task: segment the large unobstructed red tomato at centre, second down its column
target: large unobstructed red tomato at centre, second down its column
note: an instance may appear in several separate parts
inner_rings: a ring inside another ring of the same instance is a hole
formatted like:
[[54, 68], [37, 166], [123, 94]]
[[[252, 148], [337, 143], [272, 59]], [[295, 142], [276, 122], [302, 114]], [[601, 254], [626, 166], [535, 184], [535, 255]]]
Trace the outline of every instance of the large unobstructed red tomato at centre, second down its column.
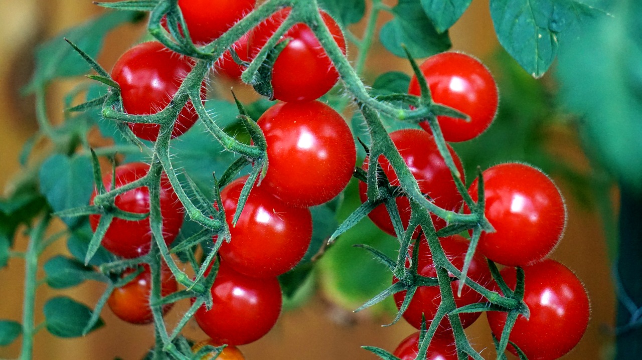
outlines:
[[268, 172], [261, 183], [297, 207], [319, 205], [348, 184], [356, 162], [350, 128], [333, 108], [279, 103], [258, 121], [267, 142]]

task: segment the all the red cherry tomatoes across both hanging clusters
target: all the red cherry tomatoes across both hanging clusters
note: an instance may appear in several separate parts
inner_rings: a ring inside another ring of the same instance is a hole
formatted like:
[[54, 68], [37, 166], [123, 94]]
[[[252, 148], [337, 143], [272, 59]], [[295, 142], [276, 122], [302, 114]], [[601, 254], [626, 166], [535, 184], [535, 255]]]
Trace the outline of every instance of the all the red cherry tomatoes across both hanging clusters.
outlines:
[[[205, 1], [202, 0], [178, 1], [185, 26], [179, 29], [180, 33], [183, 36], [189, 34], [197, 45], [218, 39], [256, 6], [254, 0], [207, 2], [207, 6], [203, 3]], [[229, 78], [238, 78], [247, 62], [261, 53], [291, 12], [291, 8], [282, 8], [240, 37], [216, 61], [214, 71]], [[320, 17], [333, 35], [334, 45], [345, 55], [341, 28], [327, 13], [321, 11]], [[168, 26], [166, 19], [163, 24]], [[309, 207], [335, 198], [354, 173], [356, 147], [351, 130], [341, 114], [318, 100], [339, 78], [324, 47], [313, 30], [303, 23], [291, 26], [277, 42], [283, 46], [273, 59], [270, 85], [272, 98], [279, 102], [268, 108], [257, 121], [265, 137], [266, 159], [261, 159], [265, 160], [261, 164], [265, 164], [266, 171], [252, 184], [236, 223], [233, 218], [239, 207], [241, 191], [248, 181], [247, 176], [227, 184], [220, 193], [220, 203], [214, 204], [217, 210], [225, 211], [231, 239], [229, 243], [221, 244], [216, 266], [207, 270], [207, 273], [216, 271], [209, 290], [212, 304], [210, 307], [200, 306], [195, 320], [211, 338], [207, 344], [230, 345], [217, 359], [243, 359], [234, 345], [256, 341], [275, 325], [282, 307], [277, 276], [295, 268], [308, 250], [312, 236]], [[237, 64], [230, 51], [234, 51], [243, 64]], [[118, 84], [123, 110], [128, 114], [149, 115], [170, 108], [173, 106], [172, 98], [194, 64], [189, 56], [173, 53], [159, 42], [144, 42], [132, 47], [119, 58], [111, 74]], [[297, 76], [292, 75], [293, 66], [297, 67]], [[462, 53], [447, 52], [428, 58], [420, 69], [432, 101], [459, 110], [468, 117], [437, 117], [446, 141], [473, 139], [490, 126], [498, 108], [498, 89], [481, 62]], [[205, 97], [204, 84], [205, 81], [201, 87], [202, 100]], [[416, 77], [410, 81], [408, 93], [422, 95], [420, 81]], [[427, 94], [423, 95], [426, 98]], [[192, 103], [188, 102], [177, 113], [172, 137], [180, 136], [198, 120]], [[389, 135], [417, 181], [419, 190], [441, 209], [471, 213], [473, 204], [464, 204], [453, 179], [453, 172], [458, 172], [460, 180], [465, 181], [464, 169], [455, 150], [447, 145], [455, 164], [451, 169], [439, 151], [439, 139], [435, 139], [439, 132], [433, 136], [433, 129], [426, 121], [418, 127], [421, 128], [397, 130]], [[130, 124], [130, 128], [141, 139], [156, 141], [160, 126]], [[371, 161], [369, 157], [363, 161], [365, 171], [372, 170], [374, 165]], [[401, 185], [390, 160], [384, 155], [377, 159], [377, 166], [380, 167], [377, 173], [385, 175], [392, 187]], [[142, 179], [149, 169], [148, 164], [125, 164], [116, 167], [114, 178], [105, 176], [103, 184], [107, 191], [117, 189]], [[516, 287], [514, 266], [523, 267], [526, 273], [524, 302], [530, 309], [530, 318], [522, 316], [517, 320], [510, 340], [529, 359], [555, 359], [566, 354], [579, 341], [589, 316], [586, 291], [581, 282], [561, 264], [544, 259], [559, 242], [566, 225], [562, 196], [548, 176], [526, 164], [500, 164], [484, 171], [482, 178], [485, 208], [480, 211], [494, 232], [482, 233], [478, 251], [469, 262], [467, 277], [480, 286], [501, 292], [490, 275], [487, 259], [507, 266], [501, 274], [513, 289]], [[379, 184], [377, 182], [377, 186]], [[469, 187], [473, 201], [478, 201], [478, 186], [479, 180], [474, 180]], [[359, 184], [359, 193], [361, 201], [368, 200], [364, 182]], [[404, 229], [409, 226], [413, 211], [406, 195], [403, 189], [395, 193]], [[92, 195], [92, 204], [96, 196], [99, 196], [98, 191]], [[150, 195], [148, 189], [141, 186], [117, 195], [113, 206], [98, 205], [102, 216], [114, 207], [141, 214], [150, 211]], [[169, 246], [182, 226], [184, 209], [165, 175], [160, 178], [160, 211], [163, 240]], [[393, 236], [400, 235], [395, 234], [385, 205], [376, 207], [369, 217], [381, 230]], [[98, 228], [100, 219], [101, 214], [90, 217], [94, 230]], [[436, 277], [438, 266], [433, 259], [435, 249], [431, 249], [425, 234], [433, 234], [449, 225], [447, 219], [436, 214], [431, 214], [431, 219], [434, 228], [410, 229], [414, 237], [419, 236], [419, 240], [406, 257], [406, 267], [416, 268], [417, 275], [423, 277]], [[214, 237], [213, 241], [217, 240]], [[102, 244], [110, 252], [131, 259], [148, 253], [152, 241], [148, 219], [131, 221], [115, 217]], [[462, 271], [469, 239], [455, 235], [439, 239], [439, 244], [447, 261]], [[418, 263], [411, 266], [413, 253]], [[131, 323], [152, 321], [150, 271], [146, 265], [143, 268], [132, 282], [115, 289], [108, 300], [112, 311]], [[126, 277], [132, 271], [135, 270], [126, 270], [121, 276]], [[485, 302], [484, 296], [473, 287], [463, 286], [458, 291], [462, 280], [453, 274], [450, 276], [456, 307]], [[161, 280], [162, 296], [178, 290], [177, 282], [167, 268], [162, 268]], [[399, 281], [395, 277], [392, 279], [393, 283]], [[555, 284], [555, 287], [548, 284]], [[394, 295], [399, 309], [406, 295], [407, 291]], [[555, 301], [549, 299], [545, 302], [542, 300], [545, 296], [552, 296]], [[441, 302], [438, 286], [420, 286], [403, 317], [421, 329], [422, 320], [428, 324], [435, 320]], [[162, 307], [162, 311], [168, 311], [169, 307]], [[480, 313], [462, 313], [459, 318], [463, 327], [468, 327], [479, 316]], [[506, 313], [489, 312], [488, 319], [492, 332], [500, 336]], [[569, 330], [571, 324], [574, 327]], [[449, 320], [444, 318], [435, 326], [437, 333], [431, 340], [426, 359], [456, 359]], [[529, 335], [537, 332], [541, 332], [541, 336]], [[419, 333], [406, 338], [395, 350], [395, 356], [402, 360], [414, 359], [418, 341]], [[194, 351], [198, 348], [195, 347]]]

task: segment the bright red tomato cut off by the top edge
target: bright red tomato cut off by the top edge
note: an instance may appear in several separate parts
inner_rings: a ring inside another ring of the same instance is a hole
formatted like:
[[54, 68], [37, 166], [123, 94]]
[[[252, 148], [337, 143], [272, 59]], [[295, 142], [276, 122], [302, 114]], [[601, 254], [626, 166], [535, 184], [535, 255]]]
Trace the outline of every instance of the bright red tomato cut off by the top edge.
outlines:
[[178, 7], [195, 44], [217, 39], [254, 10], [256, 0], [178, 0]]

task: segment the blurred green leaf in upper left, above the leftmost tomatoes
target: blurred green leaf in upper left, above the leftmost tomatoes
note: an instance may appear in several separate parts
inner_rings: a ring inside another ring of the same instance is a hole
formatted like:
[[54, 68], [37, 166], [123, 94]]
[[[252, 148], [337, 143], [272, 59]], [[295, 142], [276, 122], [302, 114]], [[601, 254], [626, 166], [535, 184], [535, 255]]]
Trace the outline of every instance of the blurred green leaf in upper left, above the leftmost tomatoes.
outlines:
[[44, 42], [36, 49], [36, 69], [26, 90], [32, 92], [35, 87], [46, 85], [54, 78], [78, 76], [89, 71], [90, 65], [73, 47], [65, 44], [64, 38], [73, 41], [87, 55], [95, 58], [108, 31], [137, 17], [135, 12], [107, 12]]

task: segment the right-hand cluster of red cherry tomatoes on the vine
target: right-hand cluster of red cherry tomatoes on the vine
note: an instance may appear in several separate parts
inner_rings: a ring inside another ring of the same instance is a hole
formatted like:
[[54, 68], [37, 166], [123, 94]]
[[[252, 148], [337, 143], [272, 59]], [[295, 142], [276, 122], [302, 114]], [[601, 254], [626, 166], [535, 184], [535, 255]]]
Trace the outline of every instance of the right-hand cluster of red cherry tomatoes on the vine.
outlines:
[[[488, 69], [475, 58], [462, 53], [441, 53], [428, 58], [421, 66], [424, 80], [430, 90], [432, 101], [455, 108], [469, 119], [438, 116], [437, 121], [446, 141], [467, 141], [483, 133], [492, 123], [498, 107], [498, 90]], [[421, 94], [416, 77], [412, 78], [408, 92]], [[399, 151], [405, 164], [417, 180], [419, 189], [429, 201], [445, 210], [469, 214], [467, 204], [458, 193], [450, 169], [437, 150], [431, 136], [428, 122], [420, 123], [426, 130], [397, 130], [390, 133], [390, 139]], [[448, 151], [456, 169], [463, 177], [462, 164], [455, 151], [448, 145]], [[369, 169], [370, 159], [363, 162], [363, 169]], [[399, 186], [397, 174], [381, 156], [378, 166], [392, 186]], [[499, 291], [490, 275], [486, 258], [508, 266], [503, 275], [509, 287], [516, 287], [515, 266], [524, 268], [526, 293], [524, 302], [530, 310], [530, 318], [519, 316], [510, 341], [525, 352], [528, 359], [557, 359], [578, 343], [589, 318], [589, 304], [586, 291], [580, 280], [558, 262], [545, 259], [553, 251], [564, 232], [566, 208], [559, 189], [539, 169], [520, 163], [499, 164], [483, 171], [484, 204], [483, 214], [494, 228], [482, 232], [474, 253], [467, 277], [477, 284]], [[469, 187], [469, 195], [478, 201], [479, 180]], [[367, 200], [367, 185], [360, 183], [361, 201]], [[403, 191], [396, 198], [402, 225], [408, 227], [412, 209]], [[444, 219], [431, 214], [434, 230], [446, 225]], [[369, 214], [370, 219], [388, 234], [395, 235], [392, 221], [384, 205], [379, 205]], [[426, 229], [422, 229], [426, 230]], [[433, 230], [433, 229], [429, 229]], [[414, 237], [421, 232], [415, 229]], [[469, 233], [472, 235], [472, 231]], [[464, 267], [469, 241], [462, 236], [451, 236], [439, 241], [447, 260], [458, 270]], [[421, 235], [419, 248], [411, 246], [406, 257], [409, 259], [418, 251], [417, 274], [436, 277], [435, 263], [426, 237]], [[463, 307], [483, 303], [484, 297], [471, 287], [464, 286], [458, 291], [459, 279], [451, 274], [451, 287], [455, 306]], [[393, 277], [393, 284], [399, 279]], [[501, 293], [501, 291], [500, 291]], [[406, 297], [406, 291], [394, 295], [399, 309]], [[417, 329], [422, 320], [430, 325], [442, 302], [438, 286], [419, 286], [403, 313], [403, 318]], [[480, 313], [459, 314], [463, 327], [473, 323]], [[488, 320], [495, 336], [501, 336], [507, 313], [490, 311]], [[395, 351], [401, 359], [414, 359], [417, 355], [419, 333], [404, 339]], [[515, 348], [509, 350], [516, 353]], [[457, 359], [453, 330], [446, 317], [437, 326], [437, 332], [428, 348], [426, 359]]]

